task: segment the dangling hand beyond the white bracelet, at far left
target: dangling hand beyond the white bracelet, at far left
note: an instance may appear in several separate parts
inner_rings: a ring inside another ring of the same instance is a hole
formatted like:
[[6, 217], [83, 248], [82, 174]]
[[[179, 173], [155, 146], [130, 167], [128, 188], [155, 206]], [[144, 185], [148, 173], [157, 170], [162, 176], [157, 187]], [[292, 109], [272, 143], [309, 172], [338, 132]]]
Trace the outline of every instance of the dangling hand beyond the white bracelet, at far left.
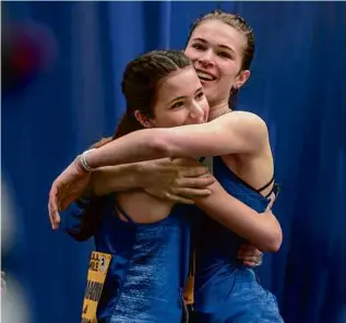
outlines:
[[58, 229], [59, 211], [80, 198], [88, 186], [91, 174], [79, 164], [79, 157], [53, 181], [49, 192], [48, 212], [52, 229]]

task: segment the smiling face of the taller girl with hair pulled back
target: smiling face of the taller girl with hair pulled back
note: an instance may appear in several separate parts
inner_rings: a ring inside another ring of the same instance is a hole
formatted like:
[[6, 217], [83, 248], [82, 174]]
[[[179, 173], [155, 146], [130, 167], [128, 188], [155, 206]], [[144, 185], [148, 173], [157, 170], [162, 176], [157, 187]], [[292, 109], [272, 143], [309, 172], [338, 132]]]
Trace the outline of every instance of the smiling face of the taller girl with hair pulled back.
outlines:
[[211, 106], [228, 100], [231, 87], [239, 88], [250, 76], [242, 70], [247, 37], [215, 19], [202, 21], [191, 34], [186, 55], [203, 85]]

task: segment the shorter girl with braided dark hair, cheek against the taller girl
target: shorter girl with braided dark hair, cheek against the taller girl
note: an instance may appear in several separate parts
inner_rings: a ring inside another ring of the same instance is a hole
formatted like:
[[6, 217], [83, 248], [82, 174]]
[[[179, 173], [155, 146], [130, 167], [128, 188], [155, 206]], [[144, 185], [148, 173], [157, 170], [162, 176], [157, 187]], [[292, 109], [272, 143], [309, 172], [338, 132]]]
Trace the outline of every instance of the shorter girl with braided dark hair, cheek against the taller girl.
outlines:
[[[122, 93], [127, 111], [114, 136], [92, 148], [100, 149], [144, 128], [195, 123], [207, 117], [201, 83], [182, 51], [152, 51], [131, 61]], [[69, 235], [79, 241], [94, 237], [96, 251], [112, 258], [97, 307], [98, 321], [180, 323], [191, 225], [198, 214], [143, 190], [91, 195], [76, 206], [70, 213], [79, 224], [70, 226]]]

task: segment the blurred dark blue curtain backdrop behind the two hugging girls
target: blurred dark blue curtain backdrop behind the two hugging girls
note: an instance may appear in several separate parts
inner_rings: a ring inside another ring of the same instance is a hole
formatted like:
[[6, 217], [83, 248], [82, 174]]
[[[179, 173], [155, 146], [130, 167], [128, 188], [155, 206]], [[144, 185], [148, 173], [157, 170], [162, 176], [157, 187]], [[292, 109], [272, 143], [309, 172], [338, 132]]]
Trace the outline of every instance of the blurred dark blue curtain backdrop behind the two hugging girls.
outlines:
[[266, 120], [283, 184], [284, 243], [261, 280], [286, 322], [346, 322], [346, 3], [25, 1], [2, 2], [2, 39], [16, 39], [14, 79], [2, 77], [2, 271], [24, 316], [4, 323], [80, 321], [92, 244], [51, 231], [50, 184], [112, 133], [126, 63], [183, 48], [190, 24], [216, 8], [254, 28], [239, 108]]

